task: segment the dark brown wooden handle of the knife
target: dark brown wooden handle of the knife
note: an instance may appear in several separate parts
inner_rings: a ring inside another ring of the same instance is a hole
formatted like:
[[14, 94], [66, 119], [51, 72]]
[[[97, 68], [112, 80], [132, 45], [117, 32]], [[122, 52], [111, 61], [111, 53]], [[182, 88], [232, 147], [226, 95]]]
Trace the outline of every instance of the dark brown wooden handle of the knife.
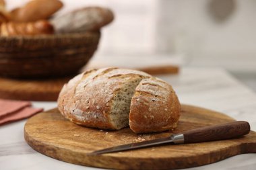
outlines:
[[250, 125], [245, 121], [236, 121], [215, 126], [207, 126], [189, 130], [183, 133], [184, 143], [207, 142], [236, 138], [249, 134]]

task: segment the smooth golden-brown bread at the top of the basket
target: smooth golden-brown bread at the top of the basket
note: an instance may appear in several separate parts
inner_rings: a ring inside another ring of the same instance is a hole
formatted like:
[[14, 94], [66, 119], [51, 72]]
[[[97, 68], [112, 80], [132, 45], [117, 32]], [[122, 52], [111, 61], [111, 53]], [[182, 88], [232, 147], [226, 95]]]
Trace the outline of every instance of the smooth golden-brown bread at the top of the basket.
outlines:
[[59, 0], [32, 0], [24, 7], [17, 8], [11, 12], [13, 22], [36, 22], [40, 19], [49, 19], [53, 13], [63, 7]]

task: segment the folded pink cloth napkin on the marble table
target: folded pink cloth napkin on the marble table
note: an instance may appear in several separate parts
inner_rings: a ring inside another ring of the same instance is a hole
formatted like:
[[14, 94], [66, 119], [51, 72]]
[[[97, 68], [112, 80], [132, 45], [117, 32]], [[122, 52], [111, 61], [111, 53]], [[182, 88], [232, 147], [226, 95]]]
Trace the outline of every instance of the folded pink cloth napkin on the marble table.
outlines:
[[42, 108], [31, 108], [30, 101], [0, 99], [0, 126], [28, 118], [38, 112], [42, 112], [42, 110]]

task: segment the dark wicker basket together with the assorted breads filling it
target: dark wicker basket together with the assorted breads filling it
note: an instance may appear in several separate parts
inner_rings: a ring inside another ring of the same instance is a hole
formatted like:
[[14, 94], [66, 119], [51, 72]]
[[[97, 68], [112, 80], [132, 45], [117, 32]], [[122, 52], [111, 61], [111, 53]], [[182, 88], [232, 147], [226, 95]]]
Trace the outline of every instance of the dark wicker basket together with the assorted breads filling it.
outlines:
[[82, 7], [52, 17], [62, 6], [58, 0], [29, 1], [0, 20], [0, 76], [61, 77], [86, 65], [97, 49], [100, 29], [113, 21], [114, 13]]

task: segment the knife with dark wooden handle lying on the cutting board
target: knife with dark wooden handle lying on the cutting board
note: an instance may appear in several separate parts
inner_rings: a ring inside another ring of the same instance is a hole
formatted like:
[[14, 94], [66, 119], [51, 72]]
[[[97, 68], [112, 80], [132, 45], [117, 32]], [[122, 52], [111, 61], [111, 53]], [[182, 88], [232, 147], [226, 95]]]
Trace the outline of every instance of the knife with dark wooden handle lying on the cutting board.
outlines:
[[188, 130], [182, 134], [172, 134], [166, 138], [157, 138], [154, 140], [147, 140], [143, 142], [135, 142], [130, 144], [123, 144], [110, 148], [88, 153], [88, 155], [100, 155], [104, 153], [115, 153], [119, 151], [133, 150], [137, 148], [145, 148], [148, 146], [156, 146], [160, 144], [186, 144], [195, 142], [209, 142], [214, 140], [224, 140], [236, 138], [249, 134], [250, 125], [245, 121], [229, 122], [226, 124], [218, 124], [214, 126], [206, 126], [203, 128], [196, 128]]

